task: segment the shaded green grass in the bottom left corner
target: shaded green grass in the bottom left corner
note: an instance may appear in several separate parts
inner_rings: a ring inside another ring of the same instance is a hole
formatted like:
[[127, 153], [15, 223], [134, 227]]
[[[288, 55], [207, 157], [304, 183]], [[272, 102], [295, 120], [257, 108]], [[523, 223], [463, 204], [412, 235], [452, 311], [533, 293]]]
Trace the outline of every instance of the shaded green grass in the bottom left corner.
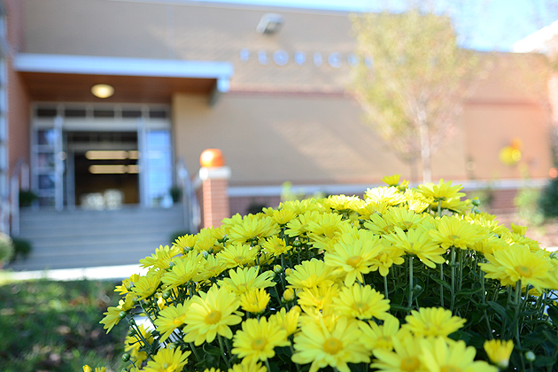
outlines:
[[4, 372], [117, 371], [128, 327], [108, 335], [99, 321], [119, 296], [112, 282], [47, 280], [0, 285], [0, 366]]

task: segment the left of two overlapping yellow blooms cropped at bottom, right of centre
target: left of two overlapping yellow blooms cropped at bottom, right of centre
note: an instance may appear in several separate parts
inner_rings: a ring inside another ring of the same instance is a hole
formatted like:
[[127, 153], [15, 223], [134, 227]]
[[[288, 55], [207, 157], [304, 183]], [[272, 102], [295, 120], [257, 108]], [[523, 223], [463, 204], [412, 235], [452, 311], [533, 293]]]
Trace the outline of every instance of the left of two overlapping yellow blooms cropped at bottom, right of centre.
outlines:
[[[379, 371], [423, 372], [421, 346], [415, 337], [391, 337], [393, 351], [378, 347], [372, 351], [376, 359], [370, 365]], [[471, 371], [472, 372], [472, 371]]]

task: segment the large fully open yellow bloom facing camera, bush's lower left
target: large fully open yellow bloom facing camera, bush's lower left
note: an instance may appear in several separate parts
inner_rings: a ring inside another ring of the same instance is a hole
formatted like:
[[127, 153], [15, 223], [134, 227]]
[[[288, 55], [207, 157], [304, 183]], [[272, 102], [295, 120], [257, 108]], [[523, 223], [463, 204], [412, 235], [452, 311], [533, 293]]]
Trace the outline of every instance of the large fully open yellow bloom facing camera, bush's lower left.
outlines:
[[213, 285], [206, 293], [199, 292], [199, 296], [190, 299], [184, 318], [184, 341], [202, 345], [213, 342], [217, 334], [232, 338], [229, 326], [242, 322], [242, 313], [236, 311], [238, 306], [239, 299], [229, 288]]

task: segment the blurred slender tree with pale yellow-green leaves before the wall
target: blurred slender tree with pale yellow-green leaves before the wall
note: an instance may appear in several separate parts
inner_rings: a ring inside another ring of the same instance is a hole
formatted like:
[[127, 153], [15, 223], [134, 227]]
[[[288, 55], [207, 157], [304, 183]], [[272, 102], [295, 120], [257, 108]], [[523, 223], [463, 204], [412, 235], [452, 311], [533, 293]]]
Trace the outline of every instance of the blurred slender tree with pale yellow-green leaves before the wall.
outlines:
[[477, 55], [461, 49], [452, 20], [419, 6], [353, 18], [357, 53], [371, 58], [354, 71], [353, 93], [376, 132], [407, 162], [431, 155], [451, 136], [475, 75]]

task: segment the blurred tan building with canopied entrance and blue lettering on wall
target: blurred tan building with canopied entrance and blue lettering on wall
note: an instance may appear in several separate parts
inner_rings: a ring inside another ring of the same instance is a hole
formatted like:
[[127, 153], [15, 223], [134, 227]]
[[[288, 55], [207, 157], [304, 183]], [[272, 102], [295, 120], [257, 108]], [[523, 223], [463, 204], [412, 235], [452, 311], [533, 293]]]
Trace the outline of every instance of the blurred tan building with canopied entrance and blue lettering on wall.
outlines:
[[[9, 179], [25, 184], [25, 165], [41, 208], [61, 211], [95, 206], [106, 190], [117, 203], [165, 205], [177, 168], [197, 174], [207, 148], [221, 149], [231, 169], [231, 213], [276, 205], [283, 182], [353, 195], [384, 175], [412, 177], [346, 93], [354, 64], [368, 62], [353, 54], [346, 12], [180, 0], [0, 4], [4, 221]], [[553, 166], [546, 81], [535, 74], [544, 57], [489, 57], [433, 175], [513, 195], [522, 172], [541, 183]], [[112, 95], [94, 96], [97, 84]], [[517, 139], [522, 159], [503, 164], [500, 151]]]

